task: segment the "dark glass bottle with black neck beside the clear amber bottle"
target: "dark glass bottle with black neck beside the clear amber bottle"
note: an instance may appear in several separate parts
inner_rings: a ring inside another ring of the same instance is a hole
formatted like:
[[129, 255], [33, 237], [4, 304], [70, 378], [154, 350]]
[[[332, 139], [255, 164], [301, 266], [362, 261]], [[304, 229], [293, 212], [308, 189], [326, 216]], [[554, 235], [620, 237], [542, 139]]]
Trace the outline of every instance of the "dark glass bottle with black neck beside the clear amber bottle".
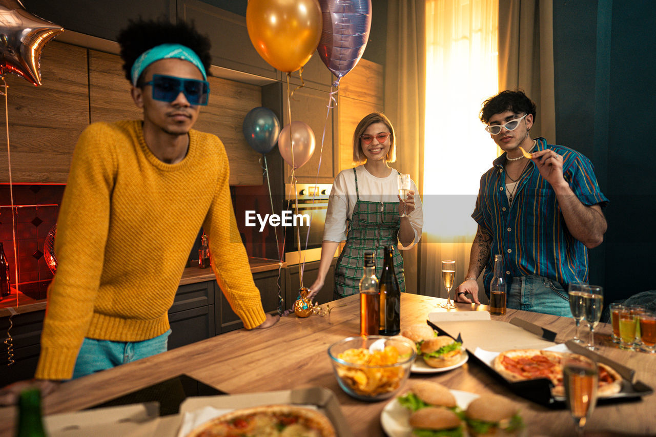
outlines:
[[380, 335], [397, 335], [401, 332], [401, 289], [394, 272], [394, 246], [385, 246], [380, 291]]

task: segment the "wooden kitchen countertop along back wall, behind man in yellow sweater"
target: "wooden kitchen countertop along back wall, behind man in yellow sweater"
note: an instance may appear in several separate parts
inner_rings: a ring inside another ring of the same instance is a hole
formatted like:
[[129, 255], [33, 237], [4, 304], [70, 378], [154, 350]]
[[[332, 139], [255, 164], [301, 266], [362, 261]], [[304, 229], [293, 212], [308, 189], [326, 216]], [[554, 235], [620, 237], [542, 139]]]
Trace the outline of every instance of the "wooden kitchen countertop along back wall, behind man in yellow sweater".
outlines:
[[[251, 273], [259, 272], [268, 272], [269, 270], [276, 270], [278, 266], [285, 268], [287, 263], [279, 262], [274, 259], [265, 259], [265, 258], [255, 258], [249, 257], [249, 264], [251, 264]], [[187, 267], [182, 272], [182, 278], [180, 279], [180, 285], [188, 285], [190, 283], [197, 283], [203, 281], [213, 281], [215, 280], [215, 274], [211, 268], [198, 268], [198, 267]], [[11, 295], [5, 297], [0, 301], [0, 317], [8, 317], [11, 315], [9, 308], [14, 308], [18, 314], [24, 314], [26, 312], [45, 310], [47, 300], [35, 300], [31, 299], [24, 295], [23, 293], [18, 293], [18, 305], [16, 305], [16, 289], [11, 289]]]

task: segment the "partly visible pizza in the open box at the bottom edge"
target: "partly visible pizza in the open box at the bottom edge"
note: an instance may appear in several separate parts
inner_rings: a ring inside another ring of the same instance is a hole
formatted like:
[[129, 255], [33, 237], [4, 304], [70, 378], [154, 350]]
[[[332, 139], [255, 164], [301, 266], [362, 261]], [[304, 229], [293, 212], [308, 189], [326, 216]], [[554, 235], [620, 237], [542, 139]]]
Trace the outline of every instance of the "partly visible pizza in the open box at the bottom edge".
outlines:
[[292, 405], [236, 409], [196, 427], [186, 437], [337, 437], [325, 415]]

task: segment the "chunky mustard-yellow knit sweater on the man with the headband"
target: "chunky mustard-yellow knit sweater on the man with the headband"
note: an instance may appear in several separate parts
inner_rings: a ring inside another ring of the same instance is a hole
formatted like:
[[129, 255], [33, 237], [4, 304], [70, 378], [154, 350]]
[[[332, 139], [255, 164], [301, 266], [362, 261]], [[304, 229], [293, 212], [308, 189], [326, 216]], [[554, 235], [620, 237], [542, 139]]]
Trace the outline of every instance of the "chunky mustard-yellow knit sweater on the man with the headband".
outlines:
[[72, 377], [84, 337], [142, 341], [165, 333], [201, 226], [230, 306], [247, 328], [264, 322], [224, 146], [214, 135], [189, 136], [187, 156], [175, 164], [150, 152], [141, 121], [94, 123], [80, 136], [57, 220], [58, 269], [35, 377]]

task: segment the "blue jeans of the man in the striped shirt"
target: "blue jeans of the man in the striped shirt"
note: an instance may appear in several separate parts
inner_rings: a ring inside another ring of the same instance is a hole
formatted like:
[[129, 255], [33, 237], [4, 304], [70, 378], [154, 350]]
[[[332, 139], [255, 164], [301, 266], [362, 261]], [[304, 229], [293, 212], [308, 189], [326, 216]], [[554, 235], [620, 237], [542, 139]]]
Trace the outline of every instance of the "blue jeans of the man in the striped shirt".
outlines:
[[567, 291], [556, 280], [544, 276], [512, 278], [508, 291], [508, 308], [571, 317]]

